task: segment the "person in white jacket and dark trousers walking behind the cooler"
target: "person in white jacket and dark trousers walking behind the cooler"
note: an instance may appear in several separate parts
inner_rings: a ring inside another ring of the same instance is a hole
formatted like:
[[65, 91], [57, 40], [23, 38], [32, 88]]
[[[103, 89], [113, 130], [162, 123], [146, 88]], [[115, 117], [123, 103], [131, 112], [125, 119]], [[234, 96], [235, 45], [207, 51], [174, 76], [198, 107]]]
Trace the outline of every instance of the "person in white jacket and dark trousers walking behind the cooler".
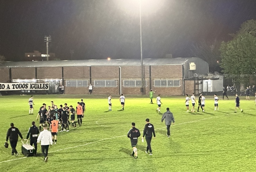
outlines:
[[51, 144], [52, 146], [53, 140], [51, 132], [47, 130], [47, 126], [43, 126], [43, 129], [37, 138], [37, 143], [41, 141], [42, 154], [44, 155], [44, 161], [47, 162], [49, 145]]

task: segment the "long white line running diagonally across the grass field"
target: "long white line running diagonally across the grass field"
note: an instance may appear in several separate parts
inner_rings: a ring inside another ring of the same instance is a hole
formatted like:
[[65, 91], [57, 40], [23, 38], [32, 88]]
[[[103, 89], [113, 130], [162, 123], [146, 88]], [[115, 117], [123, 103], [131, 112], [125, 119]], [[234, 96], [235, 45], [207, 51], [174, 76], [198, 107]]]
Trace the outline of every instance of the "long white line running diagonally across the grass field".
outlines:
[[[233, 113], [230, 113], [230, 114], [233, 114]], [[199, 119], [199, 120], [195, 120], [195, 121], [189, 121], [189, 122], [178, 123], [178, 124], [175, 124], [175, 125], [173, 125], [173, 126], [182, 125], [182, 124], [185, 124], [185, 123], [197, 122], [197, 121], [201, 121], [201, 120], [205, 120], [205, 119], [211, 119], [211, 118], [216, 118], [216, 117], [227, 116], [227, 115], [230, 115], [230, 114], [221, 115], [221, 116], [214, 116], [214, 117], [209, 117], [209, 118], [203, 118], [203, 119]], [[173, 127], [173, 126], [171, 126], [171, 127]], [[155, 130], [159, 130], [159, 129], [163, 129], [163, 128], [166, 128], [166, 127], [157, 128], [157, 129], [155, 129]], [[106, 139], [101, 139], [101, 140], [93, 141], [93, 142], [90, 142], [90, 143], [81, 144], [81, 145], [79, 145], [79, 146], [74, 146], [74, 147], [69, 147], [69, 148], [64, 148], [64, 149], [58, 149], [58, 150], [55, 150], [55, 151], [50, 151], [50, 152], [48, 152], [48, 153], [57, 152], [57, 151], [62, 151], [62, 150], [66, 150], [66, 149], [77, 148], [77, 147], [81, 147], [81, 146], [86, 146], [86, 145], [88, 145], [88, 144], [97, 143], [97, 142], [100, 142], [100, 141], [115, 139], [115, 138], [124, 137], [124, 136], [126, 136], [126, 135], [116, 136], [116, 137], [110, 137], [110, 138], [106, 138]], [[15, 161], [15, 160], [24, 159], [24, 158], [28, 158], [28, 157], [22, 157], [22, 158], [7, 160], [7, 161], [1, 161], [0, 163]]]

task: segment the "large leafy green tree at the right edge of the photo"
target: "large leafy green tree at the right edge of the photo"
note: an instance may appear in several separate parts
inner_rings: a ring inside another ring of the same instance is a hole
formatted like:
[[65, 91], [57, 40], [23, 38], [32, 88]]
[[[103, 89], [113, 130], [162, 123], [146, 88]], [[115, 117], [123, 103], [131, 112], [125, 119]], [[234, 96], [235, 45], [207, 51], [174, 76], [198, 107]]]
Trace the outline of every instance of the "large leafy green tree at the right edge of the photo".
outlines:
[[241, 24], [231, 41], [221, 43], [220, 52], [222, 72], [248, 83], [249, 76], [256, 71], [256, 21]]

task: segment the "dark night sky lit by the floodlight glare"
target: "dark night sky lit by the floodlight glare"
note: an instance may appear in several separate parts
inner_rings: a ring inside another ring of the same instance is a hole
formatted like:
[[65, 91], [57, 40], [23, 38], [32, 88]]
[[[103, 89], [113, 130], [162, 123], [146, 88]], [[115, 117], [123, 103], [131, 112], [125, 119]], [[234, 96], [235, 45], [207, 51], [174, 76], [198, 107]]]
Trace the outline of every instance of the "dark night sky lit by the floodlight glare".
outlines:
[[[141, 0], [143, 58], [191, 57], [250, 19], [256, 0]], [[140, 58], [139, 0], [0, 0], [0, 55], [45, 54], [45, 35], [61, 60]]]

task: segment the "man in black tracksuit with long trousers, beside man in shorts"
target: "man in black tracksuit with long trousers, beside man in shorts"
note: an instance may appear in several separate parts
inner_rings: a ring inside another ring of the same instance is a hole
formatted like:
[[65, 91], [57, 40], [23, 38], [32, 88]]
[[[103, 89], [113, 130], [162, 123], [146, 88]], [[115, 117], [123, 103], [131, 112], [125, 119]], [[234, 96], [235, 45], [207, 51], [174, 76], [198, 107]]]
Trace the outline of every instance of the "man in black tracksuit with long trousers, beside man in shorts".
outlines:
[[154, 138], [156, 138], [156, 134], [155, 134], [155, 129], [152, 123], [149, 123], [149, 119], [146, 119], [146, 125], [143, 131], [143, 137], [146, 135], [146, 141], [147, 141], [147, 150], [145, 150], [146, 153], [148, 153], [149, 150], [149, 155], [152, 155], [152, 149], [151, 149], [151, 139], [152, 139], [152, 133], [154, 135]]

